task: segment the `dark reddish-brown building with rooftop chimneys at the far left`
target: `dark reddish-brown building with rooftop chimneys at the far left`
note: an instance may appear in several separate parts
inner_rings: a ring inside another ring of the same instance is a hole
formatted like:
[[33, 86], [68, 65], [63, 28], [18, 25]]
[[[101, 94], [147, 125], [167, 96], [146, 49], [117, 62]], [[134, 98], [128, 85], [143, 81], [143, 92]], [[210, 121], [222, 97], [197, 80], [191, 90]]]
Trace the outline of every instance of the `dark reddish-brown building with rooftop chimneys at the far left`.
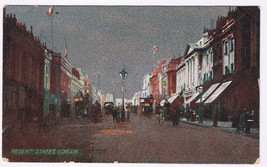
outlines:
[[32, 28], [27, 31], [15, 15], [4, 13], [3, 30], [3, 120], [9, 124], [21, 108], [42, 115], [45, 57]]

